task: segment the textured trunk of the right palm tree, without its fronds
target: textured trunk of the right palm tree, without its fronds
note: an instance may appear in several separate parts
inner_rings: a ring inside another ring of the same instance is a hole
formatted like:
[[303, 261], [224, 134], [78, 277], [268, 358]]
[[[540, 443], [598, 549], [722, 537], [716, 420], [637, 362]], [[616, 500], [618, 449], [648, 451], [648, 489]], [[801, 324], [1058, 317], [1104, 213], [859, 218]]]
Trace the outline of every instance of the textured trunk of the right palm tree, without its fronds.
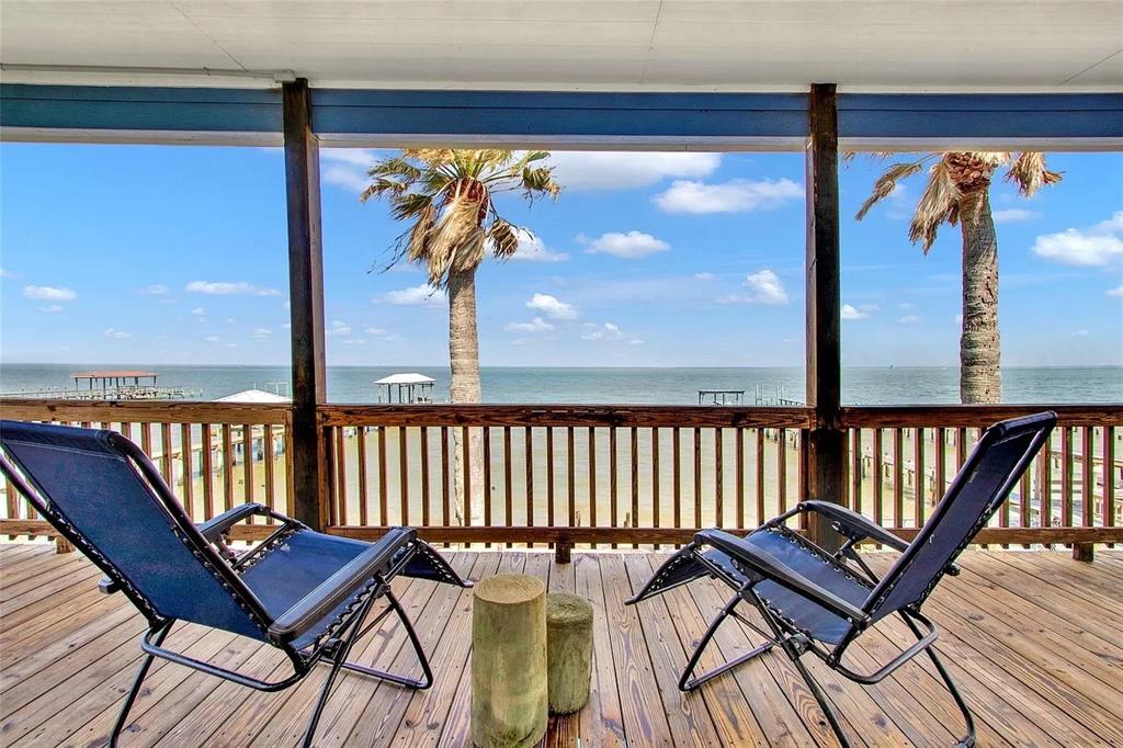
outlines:
[[959, 398], [965, 403], [1002, 402], [998, 345], [998, 239], [990, 216], [989, 185], [959, 200], [964, 235], [964, 327], [959, 340]]

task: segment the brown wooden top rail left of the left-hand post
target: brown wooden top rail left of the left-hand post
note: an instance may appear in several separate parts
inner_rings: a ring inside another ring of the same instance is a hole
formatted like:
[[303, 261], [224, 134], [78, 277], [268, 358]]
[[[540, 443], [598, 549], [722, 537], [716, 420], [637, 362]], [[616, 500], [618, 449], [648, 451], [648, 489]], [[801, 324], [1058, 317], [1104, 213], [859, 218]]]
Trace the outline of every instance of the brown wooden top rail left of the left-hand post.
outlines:
[[3, 418], [25, 421], [284, 425], [290, 412], [287, 405], [191, 400], [0, 400]]

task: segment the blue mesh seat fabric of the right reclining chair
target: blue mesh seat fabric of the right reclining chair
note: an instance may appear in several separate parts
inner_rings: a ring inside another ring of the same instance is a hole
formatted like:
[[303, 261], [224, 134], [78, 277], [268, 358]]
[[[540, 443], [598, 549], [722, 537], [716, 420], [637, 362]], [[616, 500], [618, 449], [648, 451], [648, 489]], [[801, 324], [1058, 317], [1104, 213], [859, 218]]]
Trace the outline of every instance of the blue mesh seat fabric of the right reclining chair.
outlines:
[[[868, 583], [839, 568], [830, 558], [811, 550], [793, 535], [783, 530], [763, 530], [747, 536], [745, 541], [853, 605], [860, 608], [869, 598]], [[710, 550], [705, 557], [738, 578], [748, 578], [724, 553]], [[838, 644], [850, 630], [850, 623], [846, 620], [775, 582], [765, 580], [757, 584], [756, 591], [777, 615], [813, 639]]]

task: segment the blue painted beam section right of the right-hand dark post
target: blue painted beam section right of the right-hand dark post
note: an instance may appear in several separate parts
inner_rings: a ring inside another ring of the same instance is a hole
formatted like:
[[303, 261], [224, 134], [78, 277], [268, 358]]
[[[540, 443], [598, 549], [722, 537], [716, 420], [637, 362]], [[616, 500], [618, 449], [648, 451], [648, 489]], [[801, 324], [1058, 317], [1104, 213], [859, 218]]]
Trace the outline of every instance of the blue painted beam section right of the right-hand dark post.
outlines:
[[1123, 94], [839, 94], [839, 137], [1120, 140]]

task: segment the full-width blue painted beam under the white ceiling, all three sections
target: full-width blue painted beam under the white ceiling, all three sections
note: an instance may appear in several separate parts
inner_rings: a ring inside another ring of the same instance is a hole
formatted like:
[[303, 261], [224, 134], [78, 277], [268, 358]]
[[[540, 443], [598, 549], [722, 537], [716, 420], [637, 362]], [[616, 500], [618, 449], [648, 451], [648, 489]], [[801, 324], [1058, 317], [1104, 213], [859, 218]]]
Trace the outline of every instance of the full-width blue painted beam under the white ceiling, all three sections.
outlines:
[[[802, 138], [803, 93], [312, 89], [325, 136]], [[838, 97], [842, 138], [1123, 138], [1123, 94]], [[280, 133], [279, 89], [0, 85], [0, 125], [39, 130]]]

